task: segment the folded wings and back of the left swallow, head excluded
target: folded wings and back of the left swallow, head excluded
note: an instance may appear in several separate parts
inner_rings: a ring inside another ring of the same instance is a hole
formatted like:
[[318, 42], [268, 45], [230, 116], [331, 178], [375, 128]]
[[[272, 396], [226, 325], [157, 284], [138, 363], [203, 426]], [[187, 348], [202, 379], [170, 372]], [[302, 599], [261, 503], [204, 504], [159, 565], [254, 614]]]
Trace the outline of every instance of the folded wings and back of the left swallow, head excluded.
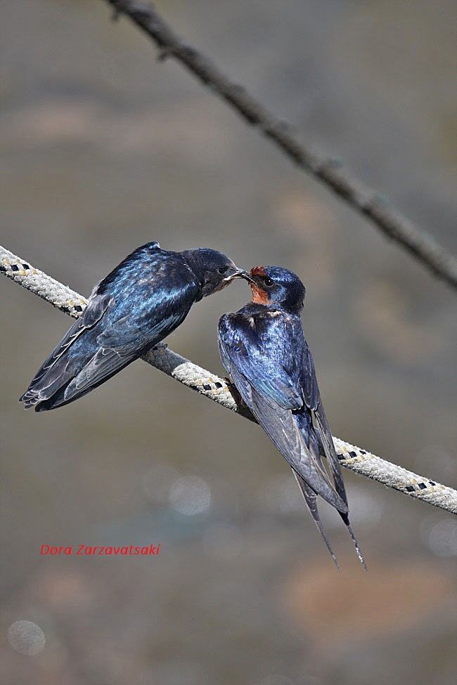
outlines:
[[175, 287], [172, 267], [157, 257], [148, 278], [135, 280], [127, 262], [108, 275], [20, 398], [25, 408], [46, 411], [82, 397], [178, 327], [196, 287], [182, 275]]

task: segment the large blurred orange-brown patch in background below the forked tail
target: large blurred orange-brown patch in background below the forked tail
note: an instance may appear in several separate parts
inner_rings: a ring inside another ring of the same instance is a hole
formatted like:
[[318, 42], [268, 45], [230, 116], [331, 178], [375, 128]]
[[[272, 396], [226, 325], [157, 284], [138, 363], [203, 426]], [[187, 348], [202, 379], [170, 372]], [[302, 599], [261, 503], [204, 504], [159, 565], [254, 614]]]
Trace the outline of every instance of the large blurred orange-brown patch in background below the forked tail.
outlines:
[[329, 566], [316, 563], [297, 569], [288, 585], [290, 615], [318, 647], [326, 648], [328, 639], [341, 648], [401, 634], [457, 603], [455, 574], [436, 563], [373, 559], [361, 574], [345, 556], [342, 568], [341, 585]]

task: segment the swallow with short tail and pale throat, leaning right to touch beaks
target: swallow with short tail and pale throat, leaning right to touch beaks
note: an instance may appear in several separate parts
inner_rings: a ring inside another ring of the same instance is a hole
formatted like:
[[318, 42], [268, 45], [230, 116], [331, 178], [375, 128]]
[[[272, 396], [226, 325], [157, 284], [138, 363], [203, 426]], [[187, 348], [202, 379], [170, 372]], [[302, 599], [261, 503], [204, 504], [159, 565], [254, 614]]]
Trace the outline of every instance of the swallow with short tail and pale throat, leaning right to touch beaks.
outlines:
[[162, 341], [194, 302], [241, 273], [213, 249], [171, 252], [158, 242], [142, 245], [94, 287], [84, 313], [19, 401], [37, 412], [74, 402]]

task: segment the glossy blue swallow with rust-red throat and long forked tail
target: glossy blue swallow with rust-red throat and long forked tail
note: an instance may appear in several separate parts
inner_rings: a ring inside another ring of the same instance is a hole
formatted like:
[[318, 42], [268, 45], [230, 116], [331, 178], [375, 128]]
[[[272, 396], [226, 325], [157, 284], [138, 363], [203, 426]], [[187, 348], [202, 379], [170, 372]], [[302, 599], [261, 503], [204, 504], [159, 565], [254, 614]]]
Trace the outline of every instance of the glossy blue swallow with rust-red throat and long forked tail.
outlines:
[[[340, 514], [366, 569], [349, 523], [340, 462], [319, 394], [300, 313], [305, 288], [295, 273], [256, 266], [242, 275], [252, 302], [219, 320], [219, 353], [257, 422], [287, 459], [319, 532], [339, 568], [317, 509], [317, 495]], [[333, 483], [323, 466], [325, 455]]]

